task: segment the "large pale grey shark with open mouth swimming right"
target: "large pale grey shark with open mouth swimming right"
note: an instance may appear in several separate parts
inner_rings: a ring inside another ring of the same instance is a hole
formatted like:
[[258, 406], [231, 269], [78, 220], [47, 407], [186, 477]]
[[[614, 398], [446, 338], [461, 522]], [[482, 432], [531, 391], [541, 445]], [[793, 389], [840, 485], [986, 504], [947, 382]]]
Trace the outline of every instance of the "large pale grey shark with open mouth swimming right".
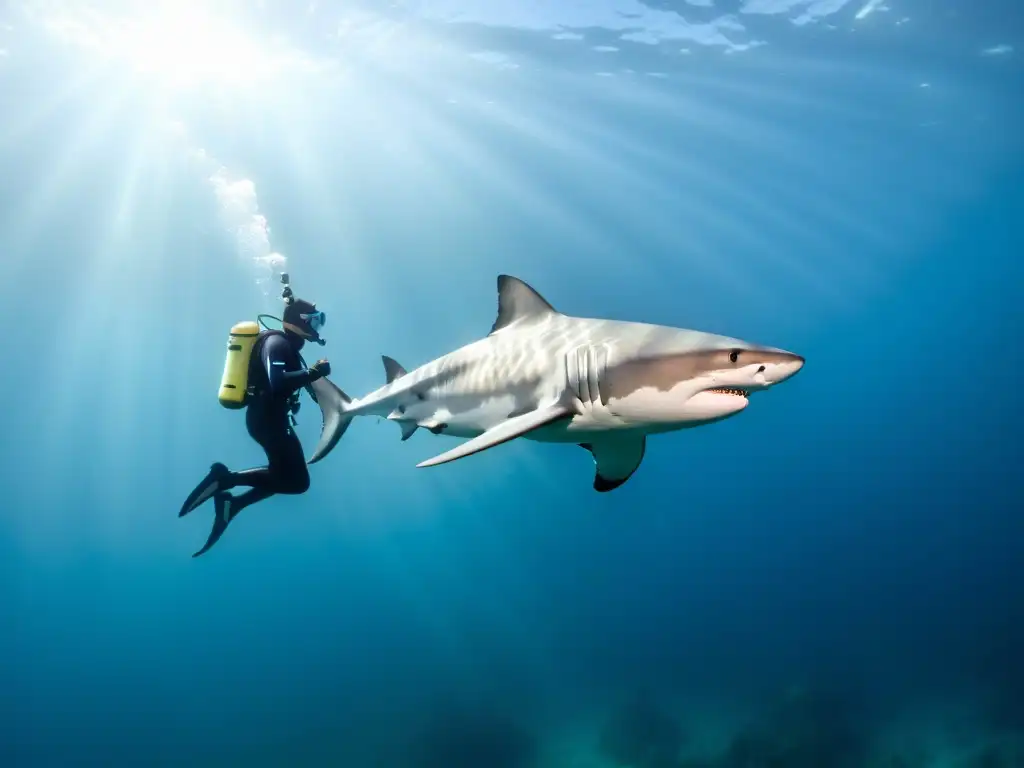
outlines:
[[578, 317], [527, 283], [498, 276], [498, 317], [483, 338], [413, 371], [382, 355], [385, 384], [351, 399], [314, 382], [323, 415], [310, 464], [323, 461], [357, 416], [465, 438], [420, 462], [435, 467], [524, 438], [580, 445], [593, 487], [621, 487], [651, 435], [705, 426], [744, 411], [750, 398], [804, 367], [799, 354], [701, 331]]

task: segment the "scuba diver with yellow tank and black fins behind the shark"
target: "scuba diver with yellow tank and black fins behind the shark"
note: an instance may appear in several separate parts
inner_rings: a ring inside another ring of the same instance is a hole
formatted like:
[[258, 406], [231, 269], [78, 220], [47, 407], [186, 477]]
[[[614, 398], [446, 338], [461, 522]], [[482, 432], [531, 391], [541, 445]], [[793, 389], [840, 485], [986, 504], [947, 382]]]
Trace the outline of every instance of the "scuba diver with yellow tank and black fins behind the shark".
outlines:
[[[309, 470], [302, 443], [295, 433], [294, 415], [299, 410], [301, 390], [306, 389], [313, 400], [310, 386], [331, 374], [331, 364], [319, 359], [306, 368], [299, 351], [307, 341], [323, 346], [319, 332], [327, 315], [315, 303], [297, 298], [285, 284], [283, 330], [261, 331], [253, 322], [240, 323], [231, 329], [227, 344], [227, 359], [221, 380], [220, 402], [232, 410], [246, 409], [249, 435], [266, 453], [267, 466], [232, 472], [220, 462], [210, 467], [196, 489], [188, 495], [178, 512], [182, 517], [209, 499], [214, 500], [213, 528], [206, 545], [193, 557], [208, 551], [227, 528], [227, 524], [246, 507], [269, 499], [275, 494], [298, 495], [309, 489]], [[262, 317], [259, 321], [262, 324]], [[276, 319], [276, 318], [274, 318]], [[248, 487], [232, 496], [234, 487]]]

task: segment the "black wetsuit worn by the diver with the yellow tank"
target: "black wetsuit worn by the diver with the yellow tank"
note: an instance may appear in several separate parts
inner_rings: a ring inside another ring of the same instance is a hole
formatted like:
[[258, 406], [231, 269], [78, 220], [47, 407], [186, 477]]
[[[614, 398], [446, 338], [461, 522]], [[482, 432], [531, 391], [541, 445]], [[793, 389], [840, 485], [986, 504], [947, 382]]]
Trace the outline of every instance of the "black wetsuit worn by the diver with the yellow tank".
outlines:
[[233, 514], [274, 494], [309, 489], [306, 458], [291, 423], [292, 395], [316, 378], [299, 357], [302, 344], [298, 337], [267, 334], [260, 342], [259, 357], [254, 356], [250, 364], [255, 394], [246, 409], [246, 427], [266, 453], [268, 464], [231, 473], [225, 487], [251, 488], [231, 502]]

